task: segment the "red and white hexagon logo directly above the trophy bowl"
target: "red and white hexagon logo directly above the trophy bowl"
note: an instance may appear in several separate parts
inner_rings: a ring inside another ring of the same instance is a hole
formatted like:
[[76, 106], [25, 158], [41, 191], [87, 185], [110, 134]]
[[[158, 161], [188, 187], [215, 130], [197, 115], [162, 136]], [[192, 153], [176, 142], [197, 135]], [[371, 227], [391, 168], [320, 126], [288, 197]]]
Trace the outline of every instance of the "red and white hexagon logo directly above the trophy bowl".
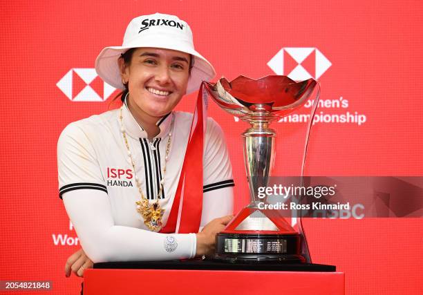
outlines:
[[319, 79], [332, 66], [319, 49], [314, 47], [284, 47], [269, 62], [276, 75], [285, 75], [295, 81]]

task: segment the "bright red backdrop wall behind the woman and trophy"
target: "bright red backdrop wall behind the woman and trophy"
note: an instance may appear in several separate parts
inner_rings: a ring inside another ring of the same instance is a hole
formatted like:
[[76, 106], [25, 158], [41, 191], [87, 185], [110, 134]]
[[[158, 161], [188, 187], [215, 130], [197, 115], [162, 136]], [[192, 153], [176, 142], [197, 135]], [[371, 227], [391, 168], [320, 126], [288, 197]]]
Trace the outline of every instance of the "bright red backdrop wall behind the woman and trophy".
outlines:
[[[122, 44], [133, 17], [154, 12], [190, 24], [217, 77], [317, 77], [326, 103], [318, 114], [357, 115], [315, 125], [309, 175], [423, 174], [421, 1], [1, 1], [0, 280], [51, 280], [48, 294], [77, 294], [81, 279], [64, 277], [79, 245], [57, 196], [57, 138], [110, 107], [95, 57]], [[195, 95], [178, 108], [193, 111]], [[86, 99], [100, 102], [77, 101]], [[248, 199], [247, 126], [214, 104], [209, 115], [225, 131], [238, 210]], [[285, 128], [295, 124], [272, 125], [281, 135], [274, 175], [297, 173], [290, 159], [302, 146]], [[423, 289], [423, 219], [305, 223], [314, 262], [346, 272], [347, 294]]]

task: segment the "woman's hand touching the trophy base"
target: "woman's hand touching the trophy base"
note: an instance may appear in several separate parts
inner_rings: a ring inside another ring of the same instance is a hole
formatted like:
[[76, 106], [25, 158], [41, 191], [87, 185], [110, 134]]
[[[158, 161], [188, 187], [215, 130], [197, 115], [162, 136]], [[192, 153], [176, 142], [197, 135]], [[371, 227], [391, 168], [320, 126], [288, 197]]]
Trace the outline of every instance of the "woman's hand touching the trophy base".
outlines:
[[233, 215], [216, 218], [207, 223], [203, 230], [197, 234], [197, 257], [214, 254], [216, 249], [216, 234], [223, 231], [232, 218], [234, 218]]

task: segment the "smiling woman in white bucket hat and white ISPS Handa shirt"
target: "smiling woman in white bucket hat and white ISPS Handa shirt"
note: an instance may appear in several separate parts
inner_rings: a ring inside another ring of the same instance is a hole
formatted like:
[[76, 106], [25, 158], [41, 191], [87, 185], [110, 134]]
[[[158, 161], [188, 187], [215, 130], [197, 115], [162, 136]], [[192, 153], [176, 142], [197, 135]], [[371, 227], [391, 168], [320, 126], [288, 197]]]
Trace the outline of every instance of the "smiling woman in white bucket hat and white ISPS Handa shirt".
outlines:
[[[123, 45], [104, 48], [95, 68], [105, 82], [123, 89], [123, 104], [69, 124], [59, 137], [59, 193], [84, 249], [68, 259], [66, 275], [72, 269], [81, 276], [91, 260], [211, 254], [216, 233], [232, 218], [234, 182], [223, 133], [209, 119], [200, 204], [181, 192], [191, 181], [181, 179], [181, 171], [198, 164], [184, 159], [201, 146], [187, 151], [195, 137], [192, 115], [173, 108], [215, 75], [194, 50], [188, 24], [158, 13], [137, 17]], [[187, 225], [195, 223], [195, 212], [200, 232], [198, 225]]]

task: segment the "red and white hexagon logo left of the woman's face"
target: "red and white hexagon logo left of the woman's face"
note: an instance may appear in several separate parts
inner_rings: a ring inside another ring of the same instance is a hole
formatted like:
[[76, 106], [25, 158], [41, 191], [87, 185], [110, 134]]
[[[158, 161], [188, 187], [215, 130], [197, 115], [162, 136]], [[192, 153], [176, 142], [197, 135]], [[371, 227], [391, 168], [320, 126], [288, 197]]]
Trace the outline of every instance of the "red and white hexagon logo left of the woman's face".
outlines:
[[104, 102], [116, 90], [95, 73], [95, 68], [71, 68], [56, 86], [73, 102]]

